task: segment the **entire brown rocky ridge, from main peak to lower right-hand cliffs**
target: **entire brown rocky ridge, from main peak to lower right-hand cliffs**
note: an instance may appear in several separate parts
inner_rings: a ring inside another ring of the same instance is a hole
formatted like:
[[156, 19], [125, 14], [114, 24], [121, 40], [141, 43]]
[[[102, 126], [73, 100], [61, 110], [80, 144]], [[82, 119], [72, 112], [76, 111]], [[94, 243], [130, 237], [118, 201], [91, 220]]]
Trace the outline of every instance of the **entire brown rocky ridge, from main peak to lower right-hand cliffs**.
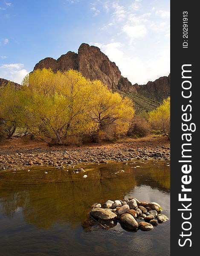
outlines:
[[83, 76], [90, 80], [101, 80], [112, 90], [139, 93], [147, 98], [162, 101], [170, 95], [170, 75], [160, 77], [147, 84], [131, 84], [127, 78], [121, 76], [116, 64], [109, 60], [98, 47], [89, 44], [81, 44], [78, 53], [67, 52], [60, 58], [44, 58], [35, 65], [34, 70], [51, 68], [53, 72], [69, 69], [78, 70]]

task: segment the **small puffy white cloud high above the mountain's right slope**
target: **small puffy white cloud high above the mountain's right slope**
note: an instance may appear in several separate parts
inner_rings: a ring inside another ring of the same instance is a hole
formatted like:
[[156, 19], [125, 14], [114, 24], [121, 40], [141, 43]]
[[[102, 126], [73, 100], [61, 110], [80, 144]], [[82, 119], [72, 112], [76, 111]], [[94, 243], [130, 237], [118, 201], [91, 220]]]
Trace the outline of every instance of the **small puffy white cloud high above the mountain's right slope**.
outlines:
[[146, 35], [147, 29], [145, 25], [130, 26], [127, 24], [123, 26], [123, 32], [125, 32], [130, 39], [142, 38]]

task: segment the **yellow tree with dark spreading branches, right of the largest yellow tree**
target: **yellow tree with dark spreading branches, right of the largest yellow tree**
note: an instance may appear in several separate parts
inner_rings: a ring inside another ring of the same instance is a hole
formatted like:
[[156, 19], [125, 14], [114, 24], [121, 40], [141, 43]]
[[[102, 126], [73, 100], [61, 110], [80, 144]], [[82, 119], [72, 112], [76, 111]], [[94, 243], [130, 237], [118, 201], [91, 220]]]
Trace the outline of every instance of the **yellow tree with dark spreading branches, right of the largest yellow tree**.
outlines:
[[113, 93], [98, 80], [90, 84], [89, 90], [89, 115], [98, 127], [96, 131], [112, 126], [115, 135], [125, 134], [135, 112], [133, 102], [119, 93]]

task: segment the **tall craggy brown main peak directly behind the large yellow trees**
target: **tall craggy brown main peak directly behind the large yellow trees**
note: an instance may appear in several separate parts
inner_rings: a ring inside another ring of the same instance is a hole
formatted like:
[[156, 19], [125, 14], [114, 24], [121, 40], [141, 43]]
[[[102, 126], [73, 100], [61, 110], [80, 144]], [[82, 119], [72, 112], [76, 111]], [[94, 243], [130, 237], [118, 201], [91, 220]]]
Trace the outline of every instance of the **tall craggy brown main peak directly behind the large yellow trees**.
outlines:
[[57, 60], [45, 58], [35, 65], [34, 70], [44, 67], [51, 68], [53, 72], [65, 71], [70, 68], [78, 70], [87, 79], [101, 80], [110, 89], [118, 89], [117, 85], [121, 77], [121, 72], [116, 64], [111, 62], [98, 47], [89, 46], [89, 44], [81, 44], [78, 54], [67, 52]]

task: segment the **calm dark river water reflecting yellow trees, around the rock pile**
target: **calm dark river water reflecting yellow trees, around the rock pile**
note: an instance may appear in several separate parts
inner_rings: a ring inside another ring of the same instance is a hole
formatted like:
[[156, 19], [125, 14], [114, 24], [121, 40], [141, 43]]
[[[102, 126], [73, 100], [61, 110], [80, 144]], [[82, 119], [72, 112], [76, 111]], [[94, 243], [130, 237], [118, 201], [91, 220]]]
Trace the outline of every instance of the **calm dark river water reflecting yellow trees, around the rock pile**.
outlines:
[[0, 171], [0, 256], [170, 255], [170, 221], [128, 232], [88, 218], [94, 203], [129, 197], [158, 202], [170, 218], [169, 161], [82, 167], [86, 179], [71, 169]]

